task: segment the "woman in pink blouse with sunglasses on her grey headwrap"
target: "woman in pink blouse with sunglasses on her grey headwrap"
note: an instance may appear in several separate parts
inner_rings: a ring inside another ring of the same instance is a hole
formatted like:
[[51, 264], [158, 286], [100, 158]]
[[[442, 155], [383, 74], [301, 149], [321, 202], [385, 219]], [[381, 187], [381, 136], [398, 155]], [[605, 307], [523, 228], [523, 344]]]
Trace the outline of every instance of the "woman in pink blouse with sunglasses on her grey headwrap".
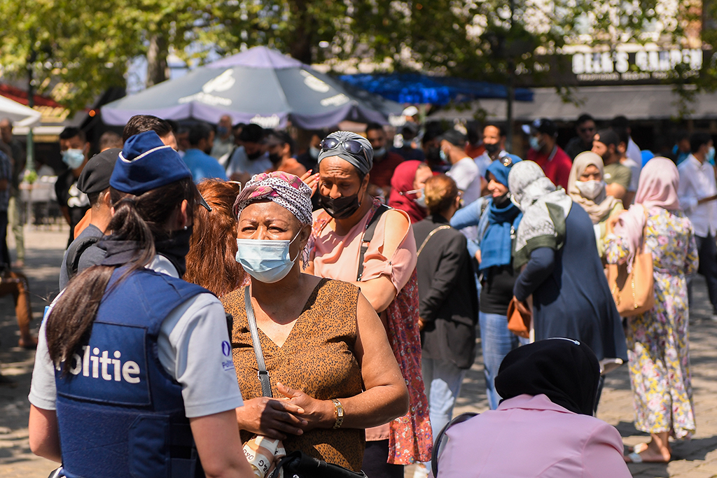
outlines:
[[[374, 150], [366, 138], [337, 131], [321, 142], [319, 204], [314, 213], [313, 273], [361, 287], [379, 313], [406, 380], [409, 413], [366, 430], [362, 469], [369, 477], [403, 477], [403, 465], [430, 458], [432, 432], [421, 376], [416, 243], [404, 211], [372, 198]], [[311, 266], [310, 266], [311, 267]]]

